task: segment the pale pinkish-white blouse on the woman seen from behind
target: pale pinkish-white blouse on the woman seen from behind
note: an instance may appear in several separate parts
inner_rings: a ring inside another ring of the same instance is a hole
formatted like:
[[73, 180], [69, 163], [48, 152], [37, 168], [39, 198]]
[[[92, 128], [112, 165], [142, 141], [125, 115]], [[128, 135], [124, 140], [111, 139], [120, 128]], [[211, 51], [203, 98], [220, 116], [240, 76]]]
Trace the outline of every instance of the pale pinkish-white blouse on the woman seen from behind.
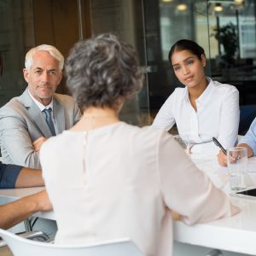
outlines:
[[171, 210], [187, 224], [230, 215], [230, 201], [173, 137], [119, 122], [64, 131], [40, 150], [56, 243], [130, 237], [146, 256], [172, 255]]

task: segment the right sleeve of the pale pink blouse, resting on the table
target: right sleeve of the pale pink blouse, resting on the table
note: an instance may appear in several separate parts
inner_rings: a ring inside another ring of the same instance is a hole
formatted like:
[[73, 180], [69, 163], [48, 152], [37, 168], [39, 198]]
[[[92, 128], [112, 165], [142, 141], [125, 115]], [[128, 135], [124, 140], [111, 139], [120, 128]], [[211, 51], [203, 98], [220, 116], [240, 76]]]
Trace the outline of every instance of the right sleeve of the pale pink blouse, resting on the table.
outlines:
[[231, 215], [227, 195], [193, 164], [172, 136], [160, 137], [158, 172], [166, 206], [187, 224]]

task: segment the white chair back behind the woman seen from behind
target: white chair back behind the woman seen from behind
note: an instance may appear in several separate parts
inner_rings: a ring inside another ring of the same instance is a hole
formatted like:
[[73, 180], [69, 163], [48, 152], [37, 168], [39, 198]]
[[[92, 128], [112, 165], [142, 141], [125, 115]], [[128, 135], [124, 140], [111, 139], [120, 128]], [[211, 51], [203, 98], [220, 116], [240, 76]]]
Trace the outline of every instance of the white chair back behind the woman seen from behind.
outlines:
[[90, 245], [59, 245], [32, 241], [1, 229], [0, 236], [6, 241], [12, 253], [19, 256], [143, 256], [129, 238]]

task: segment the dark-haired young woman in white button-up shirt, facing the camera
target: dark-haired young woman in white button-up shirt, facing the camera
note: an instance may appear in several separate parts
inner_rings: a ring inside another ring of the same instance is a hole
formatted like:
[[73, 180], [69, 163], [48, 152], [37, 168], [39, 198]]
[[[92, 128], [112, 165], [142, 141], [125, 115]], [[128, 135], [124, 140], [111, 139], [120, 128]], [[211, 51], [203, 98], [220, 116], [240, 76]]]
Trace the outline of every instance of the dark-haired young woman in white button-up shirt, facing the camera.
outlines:
[[192, 152], [217, 154], [216, 137], [224, 148], [236, 143], [239, 125], [239, 93], [230, 84], [207, 78], [204, 49], [187, 39], [172, 45], [169, 52], [177, 79], [185, 88], [176, 88], [168, 97], [153, 125], [169, 131], [176, 123], [179, 135], [195, 143]]

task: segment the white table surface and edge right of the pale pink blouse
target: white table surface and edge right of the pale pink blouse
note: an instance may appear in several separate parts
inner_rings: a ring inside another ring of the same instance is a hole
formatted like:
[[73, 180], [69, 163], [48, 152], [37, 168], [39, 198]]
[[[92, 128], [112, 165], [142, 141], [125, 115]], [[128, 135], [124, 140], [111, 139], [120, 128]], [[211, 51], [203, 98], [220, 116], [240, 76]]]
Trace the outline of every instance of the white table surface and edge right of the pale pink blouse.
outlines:
[[[207, 173], [218, 188], [230, 194], [226, 167], [218, 166], [217, 160], [194, 159], [194, 162]], [[248, 186], [256, 184], [256, 157], [248, 160], [246, 183]], [[234, 205], [241, 208], [241, 212], [236, 216], [193, 226], [177, 221], [174, 224], [174, 240], [195, 246], [256, 255], [256, 198], [230, 196], [230, 199]]]

